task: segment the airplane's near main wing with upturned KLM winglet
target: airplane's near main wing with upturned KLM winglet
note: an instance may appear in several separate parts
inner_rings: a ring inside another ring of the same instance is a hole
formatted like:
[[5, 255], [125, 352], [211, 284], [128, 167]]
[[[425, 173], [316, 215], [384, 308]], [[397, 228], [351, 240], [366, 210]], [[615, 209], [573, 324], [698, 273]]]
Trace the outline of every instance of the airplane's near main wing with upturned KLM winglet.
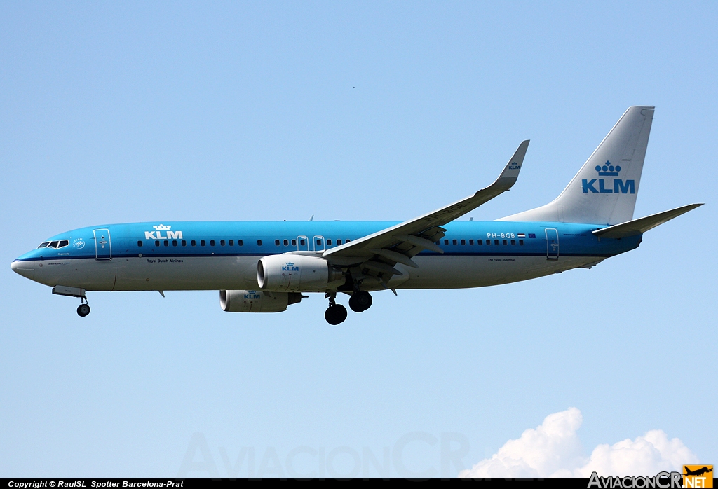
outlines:
[[[443, 253], [436, 242], [444, 237], [441, 226], [471, 212], [481, 204], [510, 189], [518, 179], [523, 157], [526, 156], [528, 140], [523, 141], [508, 161], [496, 181], [485, 189], [477, 191], [466, 199], [454, 202], [429, 214], [416, 217], [396, 226], [388, 227], [369, 234], [345, 245], [337, 246], [324, 253], [332, 263], [343, 267], [356, 266], [362, 270], [360, 275], [375, 277], [386, 287], [391, 275], [402, 275], [394, 265], [402, 263], [409, 267], [418, 267], [411, 257], [423, 250]], [[353, 271], [353, 275], [358, 270]], [[354, 277], [356, 279], [356, 277]]]

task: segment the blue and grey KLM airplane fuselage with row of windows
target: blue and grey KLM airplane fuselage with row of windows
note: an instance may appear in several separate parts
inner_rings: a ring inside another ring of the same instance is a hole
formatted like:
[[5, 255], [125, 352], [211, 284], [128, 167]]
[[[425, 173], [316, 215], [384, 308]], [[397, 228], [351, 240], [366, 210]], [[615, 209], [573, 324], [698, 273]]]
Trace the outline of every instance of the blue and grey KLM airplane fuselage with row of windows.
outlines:
[[[396, 222], [162, 222], [58, 234], [13, 269], [50, 286], [85, 290], [256, 290], [257, 262], [281, 253], [321, 256]], [[600, 239], [604, 226], [561, 222], [451, 222], [418, 268], [397, 264], [391, 288], [473, 288], [585, 267], [633, 250], [641, 236]], [[57, 247], [58, 245], [63, 245]], [[55, 246], [55, 247], [53, 247]], [[370, 289], [378, 290], [376, 286]], [[307, 290], [320, 292], [323, 290]]]

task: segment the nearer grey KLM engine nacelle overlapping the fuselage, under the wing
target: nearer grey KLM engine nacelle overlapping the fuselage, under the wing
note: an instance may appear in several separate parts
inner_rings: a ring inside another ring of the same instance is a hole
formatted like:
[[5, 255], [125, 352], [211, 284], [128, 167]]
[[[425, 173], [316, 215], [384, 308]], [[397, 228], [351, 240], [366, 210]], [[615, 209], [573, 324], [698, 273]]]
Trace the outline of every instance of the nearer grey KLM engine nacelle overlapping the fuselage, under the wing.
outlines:
[[261, 290], [323, 292], [330, 284], [341, 285], [342, 270], [324, 258], [306, 255], [270, 255], [257, 263], [257, 283]]

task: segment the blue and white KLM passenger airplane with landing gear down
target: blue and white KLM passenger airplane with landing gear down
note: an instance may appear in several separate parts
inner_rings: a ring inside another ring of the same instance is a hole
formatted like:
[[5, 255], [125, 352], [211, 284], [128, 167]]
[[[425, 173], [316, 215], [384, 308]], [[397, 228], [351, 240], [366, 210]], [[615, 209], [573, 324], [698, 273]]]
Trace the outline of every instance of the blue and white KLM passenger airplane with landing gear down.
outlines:
[[324, 293], [325, 319], [363, 312], [370, 293], [476, 288], [591, 268], [703, 204], [633, 219], [654, 108], [628, 108], [556, 199], [495, 221], [457, 221], [516, 183], [528, 141], [496, 181], [405, 222], [141, 222], [63, 232], [14, 260], [19, 275], [80, 298], [89, 291], [219, 290], [228, 312], [276, 313]]

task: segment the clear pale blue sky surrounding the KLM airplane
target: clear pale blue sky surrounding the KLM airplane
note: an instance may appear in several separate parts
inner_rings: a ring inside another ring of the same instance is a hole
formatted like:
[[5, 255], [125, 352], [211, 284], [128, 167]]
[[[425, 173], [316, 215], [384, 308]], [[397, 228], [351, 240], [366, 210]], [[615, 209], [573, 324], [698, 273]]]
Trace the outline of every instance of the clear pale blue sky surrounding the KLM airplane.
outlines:
[[[174, 476], [195, 433], [220, 476], [222, 450], [349, 473], [406, 436], [409, 470], [457, 475], [421, 437], [459, 434], [467, 468], [569, 407], [586, 455], [662, 429], [718, 462], [713, 2], [1, 4], [1, 476]], [[80, 319], [9, 269], [95, 224], [409, 219], [530, 138], [470, 214], [497, 219], [553, 199], [630, 105], [656, 105], [635, 217], [707, 205], [592, 270], [377, 293], [330, 327], [319, 295], [95, 293]]]

